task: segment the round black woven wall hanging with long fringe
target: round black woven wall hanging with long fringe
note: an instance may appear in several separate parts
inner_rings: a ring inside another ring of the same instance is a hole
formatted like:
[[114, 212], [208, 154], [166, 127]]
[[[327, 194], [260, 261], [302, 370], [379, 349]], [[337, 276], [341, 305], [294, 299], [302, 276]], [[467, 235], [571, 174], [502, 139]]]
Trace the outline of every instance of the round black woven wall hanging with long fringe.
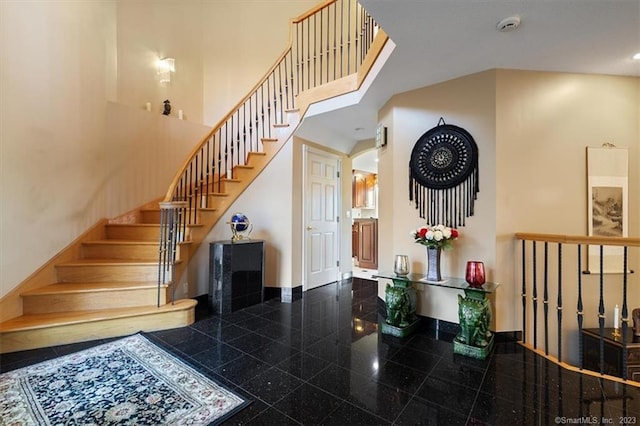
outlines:
[[478, 177], [478, 146], [473, 137], [440, 118], [411, 152], [409, 200], [428, 223], [464, 226], [474, 213]]

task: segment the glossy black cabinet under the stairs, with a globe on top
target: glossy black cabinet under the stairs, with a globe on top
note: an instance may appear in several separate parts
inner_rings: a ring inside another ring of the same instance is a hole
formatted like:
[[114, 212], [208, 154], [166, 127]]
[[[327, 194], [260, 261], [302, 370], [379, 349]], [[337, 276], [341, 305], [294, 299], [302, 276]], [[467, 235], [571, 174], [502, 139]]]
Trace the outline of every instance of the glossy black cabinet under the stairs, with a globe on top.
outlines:
[[209, 247], [209, 309], [227, 314], [263, 301], [261, 240], [214, 241]]

